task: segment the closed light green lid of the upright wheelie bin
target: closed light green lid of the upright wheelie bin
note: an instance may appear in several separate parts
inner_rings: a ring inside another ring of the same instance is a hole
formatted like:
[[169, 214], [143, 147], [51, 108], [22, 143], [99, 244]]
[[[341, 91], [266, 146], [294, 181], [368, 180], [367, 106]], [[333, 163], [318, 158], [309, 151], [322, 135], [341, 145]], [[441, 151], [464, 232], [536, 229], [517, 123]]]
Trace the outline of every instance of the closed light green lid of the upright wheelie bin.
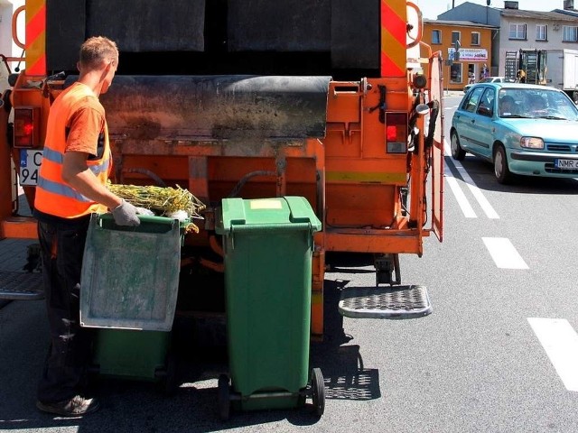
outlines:
[[275, 226], [309, 223], [313, 232], [322, 229], [322, 222], [303, 197], [223, 198], [222, 221], [215, 229], [226, 234], [233, 226]]

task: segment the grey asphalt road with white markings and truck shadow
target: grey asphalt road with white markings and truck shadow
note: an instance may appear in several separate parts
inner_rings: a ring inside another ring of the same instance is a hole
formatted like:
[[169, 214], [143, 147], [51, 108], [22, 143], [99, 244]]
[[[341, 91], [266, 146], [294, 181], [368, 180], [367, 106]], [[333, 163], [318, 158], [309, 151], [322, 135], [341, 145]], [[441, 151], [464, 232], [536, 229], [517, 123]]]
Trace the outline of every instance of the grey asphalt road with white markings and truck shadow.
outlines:
[[[460, 97], [445, 100], [446, 127]], [[449, 134], [446, 134], [446, 140]], [[367, 257], [335, 256], [326, 274], [326, 338], [312, 344], [325, 413], [271, 410], [221, 421], [222, 347], [182, 353], [177, 392], [107, 380], [85, 419], [34, 408], [46, 345], [42, 301], [0, 309], [0, 429], [55, 432], [578, 432], [578, 180], [517, 180], [446, 157], [444, 239], [402, 256], [404, 283], [424, 284], [433, 314], [341, 318], [342, 288], [371, 287]], [[219, 330], [218, 322], [208, 327]], [[199, 341], [198, 341], [199, 342]], [[192, 352], [192, 353], [191, 353]]]

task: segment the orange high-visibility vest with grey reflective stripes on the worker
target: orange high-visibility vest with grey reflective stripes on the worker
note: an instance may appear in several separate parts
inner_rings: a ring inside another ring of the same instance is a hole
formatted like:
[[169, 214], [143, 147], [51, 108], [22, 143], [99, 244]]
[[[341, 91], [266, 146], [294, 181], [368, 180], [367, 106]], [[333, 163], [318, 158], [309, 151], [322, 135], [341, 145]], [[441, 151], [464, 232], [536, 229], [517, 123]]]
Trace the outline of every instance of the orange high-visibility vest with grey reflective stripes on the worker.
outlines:
[[[87, 86], [75, 83], [65, 89], [51, 106], [51, 115], [46, 129], [46, 140], [42, 152], [42, 164], [38, 173], [38, 185], [34, 207], [41, 212], [56, 217], [75, 218], [93, 212], [106, 212], [107, 207], [92, 201], [62, 180], [62, 161], [66, 150], [66, 130], [70, 116], [74, 114], [79, 101], [86, 97], [96, 97]], [[104, 113], [104, 111], [103, 111]], [[95, 149], [97, 145], [95, 143]], [[104, 148], [102, 157], [87, 161], [89, 169], [98, 180], [106, 185], [112, 168], [108, 128], [104, 124]]]

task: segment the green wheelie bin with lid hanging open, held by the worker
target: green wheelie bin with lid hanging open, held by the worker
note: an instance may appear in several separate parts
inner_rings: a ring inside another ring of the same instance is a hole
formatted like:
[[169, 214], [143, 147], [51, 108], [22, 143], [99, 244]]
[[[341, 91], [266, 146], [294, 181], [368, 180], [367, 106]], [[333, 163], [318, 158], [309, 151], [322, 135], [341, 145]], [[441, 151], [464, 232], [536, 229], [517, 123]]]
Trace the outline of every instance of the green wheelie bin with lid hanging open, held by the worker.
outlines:
[[182, 223], [139, 216], [117, 226], [93, 214], [85, 246], [80, 324], [96, 327], [93, 372], [159, 382], [172, 392], [171, 330], [181, 263]]

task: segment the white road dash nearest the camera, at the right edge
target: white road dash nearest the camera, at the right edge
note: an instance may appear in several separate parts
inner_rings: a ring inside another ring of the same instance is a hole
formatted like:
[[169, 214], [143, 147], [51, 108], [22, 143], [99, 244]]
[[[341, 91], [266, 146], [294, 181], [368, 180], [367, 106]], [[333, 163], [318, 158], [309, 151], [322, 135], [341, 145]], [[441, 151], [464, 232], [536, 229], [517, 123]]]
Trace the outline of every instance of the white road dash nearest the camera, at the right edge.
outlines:
[[572, 325], [564, 318], [528, 318], [527, 321], [566, 390], [578, 392], [578, 334]]

